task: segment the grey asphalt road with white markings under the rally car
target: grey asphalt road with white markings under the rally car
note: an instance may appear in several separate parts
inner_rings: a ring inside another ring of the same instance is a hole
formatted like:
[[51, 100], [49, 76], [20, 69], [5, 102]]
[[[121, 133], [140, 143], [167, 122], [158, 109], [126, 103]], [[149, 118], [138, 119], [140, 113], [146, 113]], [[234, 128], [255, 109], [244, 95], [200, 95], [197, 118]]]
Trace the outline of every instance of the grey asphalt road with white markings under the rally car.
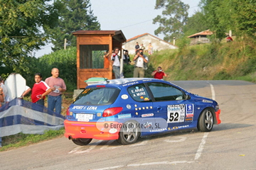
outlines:
[[172, 81], [218, 101], [222, 123], [211, 132], [173, 132], [134, 145], [65, 137], [0, 152], [0, 169], [256, 169], [256, 84]]

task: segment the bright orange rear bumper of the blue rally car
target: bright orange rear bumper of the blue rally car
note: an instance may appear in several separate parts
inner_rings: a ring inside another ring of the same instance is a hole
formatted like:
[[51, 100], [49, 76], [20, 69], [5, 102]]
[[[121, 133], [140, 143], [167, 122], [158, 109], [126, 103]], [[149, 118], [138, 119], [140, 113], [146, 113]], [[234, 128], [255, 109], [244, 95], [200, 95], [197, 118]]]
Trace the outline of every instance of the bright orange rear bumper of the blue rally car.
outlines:
[[[69, 139], [92, 138], [96, 140], [117, 140], [122, 123], [77, 122], [65, 120], [65, 137]], [[117, 132], [110, 132], [110, 129]]]

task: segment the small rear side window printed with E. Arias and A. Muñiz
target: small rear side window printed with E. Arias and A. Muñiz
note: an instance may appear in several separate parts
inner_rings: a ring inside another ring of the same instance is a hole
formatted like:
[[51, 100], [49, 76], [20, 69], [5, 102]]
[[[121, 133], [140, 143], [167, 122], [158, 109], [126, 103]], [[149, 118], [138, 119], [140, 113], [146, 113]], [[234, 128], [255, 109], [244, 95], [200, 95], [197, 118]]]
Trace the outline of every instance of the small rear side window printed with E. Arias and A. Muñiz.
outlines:
[[134, 86], [130, 86], [127, 90], [129, 95], [134, 99], [134, 101], [151, 101], [151, 98], [149, 98], [149, 93], [148, 91], [146, 91], [146, 87], [144, 84], [136, 84]]

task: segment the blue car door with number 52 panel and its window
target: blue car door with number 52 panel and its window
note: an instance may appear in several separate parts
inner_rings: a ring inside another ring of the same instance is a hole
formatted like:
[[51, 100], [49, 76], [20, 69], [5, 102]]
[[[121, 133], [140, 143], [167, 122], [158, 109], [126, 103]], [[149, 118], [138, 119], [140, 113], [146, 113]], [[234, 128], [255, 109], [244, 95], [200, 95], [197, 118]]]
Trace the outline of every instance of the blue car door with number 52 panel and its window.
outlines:
[[181, 89], [158, 82], [150, 82], [147, 85], [154, 96], [154, 117], [164, 118], [168, 124], [168, 130], [191, 124], [194, 105], [185, 99], [186, 95]]

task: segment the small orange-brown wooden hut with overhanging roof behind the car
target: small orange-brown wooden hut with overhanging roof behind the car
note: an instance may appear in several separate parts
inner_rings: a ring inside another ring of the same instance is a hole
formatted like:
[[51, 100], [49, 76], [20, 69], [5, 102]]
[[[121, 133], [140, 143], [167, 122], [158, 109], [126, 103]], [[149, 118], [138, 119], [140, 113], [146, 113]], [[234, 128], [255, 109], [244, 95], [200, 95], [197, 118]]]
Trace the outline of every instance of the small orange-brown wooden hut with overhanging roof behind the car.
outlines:
[[[78, 30], [77, 37], [77, 87], [84, 89], [85, 80], [91, 77], [113, 79], [110, 57], [114, 47], [122, 50], [126, 41], [122, 30]], [[103, 57], [110, 52], [108, 57]], [[122, 51], [120, 52], [122, 58]]]

